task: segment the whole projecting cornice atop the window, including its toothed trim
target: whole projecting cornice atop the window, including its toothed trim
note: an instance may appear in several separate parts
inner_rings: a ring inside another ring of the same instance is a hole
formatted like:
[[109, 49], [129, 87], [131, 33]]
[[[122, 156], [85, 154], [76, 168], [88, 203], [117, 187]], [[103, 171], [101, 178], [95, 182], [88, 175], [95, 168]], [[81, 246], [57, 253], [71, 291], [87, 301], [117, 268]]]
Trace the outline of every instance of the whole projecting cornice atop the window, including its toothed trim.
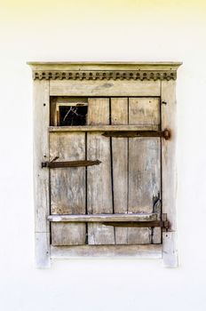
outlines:
[[36, 80], [176, 80], [181, 63], [29, 62]]

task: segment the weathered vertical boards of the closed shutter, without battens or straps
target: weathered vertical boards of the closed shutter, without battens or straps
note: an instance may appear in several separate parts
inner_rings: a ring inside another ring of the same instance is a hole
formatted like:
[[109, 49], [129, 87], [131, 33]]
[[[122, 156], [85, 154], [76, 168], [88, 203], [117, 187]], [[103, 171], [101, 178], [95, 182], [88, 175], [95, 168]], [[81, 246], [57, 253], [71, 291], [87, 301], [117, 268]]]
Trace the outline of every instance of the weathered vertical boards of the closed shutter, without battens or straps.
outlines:
[[[159, 98], [90, 98], [87, 125], [160, 129]], [[52, 214], [161, 213], [161, 139], [107, 137], [104, 132], [50, 132], [50, 161], [99, 160], [51, 168]], [[55, 160], [58, 157], [57, 160]], [[158, 209], [157, 209], [158, 206]], [[161, 243], [160, 227], [52, 222], [53, 245]]]

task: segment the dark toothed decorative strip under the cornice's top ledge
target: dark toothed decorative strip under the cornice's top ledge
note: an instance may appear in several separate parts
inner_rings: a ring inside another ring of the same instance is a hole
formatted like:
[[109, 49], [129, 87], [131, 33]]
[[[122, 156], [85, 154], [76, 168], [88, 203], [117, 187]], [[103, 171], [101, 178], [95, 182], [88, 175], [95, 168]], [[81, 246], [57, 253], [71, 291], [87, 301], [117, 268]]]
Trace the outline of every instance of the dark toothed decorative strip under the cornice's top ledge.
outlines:
[[176, 80], [176, 70], [33, 70], [39, 80]]

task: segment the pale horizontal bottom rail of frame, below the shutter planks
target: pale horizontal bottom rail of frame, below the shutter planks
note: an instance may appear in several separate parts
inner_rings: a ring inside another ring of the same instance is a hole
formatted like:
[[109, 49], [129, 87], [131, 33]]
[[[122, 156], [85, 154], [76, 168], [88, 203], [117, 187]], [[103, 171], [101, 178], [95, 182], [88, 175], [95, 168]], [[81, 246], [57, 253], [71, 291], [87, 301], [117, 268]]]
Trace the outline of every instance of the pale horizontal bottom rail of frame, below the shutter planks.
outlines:
[[52, 259], [137, 258], [162, 259], [161, 244], [51, 246]]

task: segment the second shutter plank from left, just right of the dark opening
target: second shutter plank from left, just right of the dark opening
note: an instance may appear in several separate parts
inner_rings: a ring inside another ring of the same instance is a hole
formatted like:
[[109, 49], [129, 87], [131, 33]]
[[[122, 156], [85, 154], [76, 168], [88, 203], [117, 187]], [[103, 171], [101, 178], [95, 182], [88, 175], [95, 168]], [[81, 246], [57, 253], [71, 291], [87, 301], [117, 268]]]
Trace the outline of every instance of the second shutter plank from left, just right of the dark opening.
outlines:
[[[109, 99], [89, 99], [88, 124], [109, 124]], [[87, 134], [87, 159], [101, 161], [87, 168], [88, 213], [112, 213], [110, 139], [99, 132]], [[89, 244], [114, 244], [114, 227], [88, 224]]]

